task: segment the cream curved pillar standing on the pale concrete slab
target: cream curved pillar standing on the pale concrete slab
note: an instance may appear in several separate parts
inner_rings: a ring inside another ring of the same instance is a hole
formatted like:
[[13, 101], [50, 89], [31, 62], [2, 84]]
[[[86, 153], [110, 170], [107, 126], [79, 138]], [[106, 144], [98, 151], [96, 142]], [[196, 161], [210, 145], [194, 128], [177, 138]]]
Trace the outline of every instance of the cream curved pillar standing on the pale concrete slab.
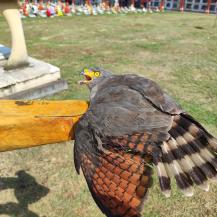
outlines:
[[6, 70], [28, 65], [26, 42], [20, 13], [17, 7], [17, 0], [0, 1], [0, 10], [3, 12], [3, 15], [8, 22], [12, 38], [12, 50], [5, 65]]

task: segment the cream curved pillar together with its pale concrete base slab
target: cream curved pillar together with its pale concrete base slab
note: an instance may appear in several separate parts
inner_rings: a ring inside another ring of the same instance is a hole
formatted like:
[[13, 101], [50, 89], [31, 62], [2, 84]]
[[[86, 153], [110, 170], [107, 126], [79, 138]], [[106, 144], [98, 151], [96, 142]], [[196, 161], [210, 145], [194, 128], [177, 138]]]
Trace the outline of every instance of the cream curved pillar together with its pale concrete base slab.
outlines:
[[0, 0], [11, 31], [12, 49], [0, 45], [0, 99], [36, 99], [67, 89], [60, 69], [29, 58], [17, 0]]

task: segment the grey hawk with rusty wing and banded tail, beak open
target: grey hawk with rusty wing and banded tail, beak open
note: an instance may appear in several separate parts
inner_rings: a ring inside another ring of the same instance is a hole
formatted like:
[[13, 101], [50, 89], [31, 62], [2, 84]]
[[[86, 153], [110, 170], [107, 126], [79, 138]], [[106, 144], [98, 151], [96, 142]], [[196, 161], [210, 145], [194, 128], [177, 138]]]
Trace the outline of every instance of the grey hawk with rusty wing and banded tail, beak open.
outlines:
[[140, 217], [152, 169], [162, 193], [209, 190], [217, 180], [217, 140], [152, 80], [83, 70], [88, 111], [75, 127], [74, 161], [107, 217]]

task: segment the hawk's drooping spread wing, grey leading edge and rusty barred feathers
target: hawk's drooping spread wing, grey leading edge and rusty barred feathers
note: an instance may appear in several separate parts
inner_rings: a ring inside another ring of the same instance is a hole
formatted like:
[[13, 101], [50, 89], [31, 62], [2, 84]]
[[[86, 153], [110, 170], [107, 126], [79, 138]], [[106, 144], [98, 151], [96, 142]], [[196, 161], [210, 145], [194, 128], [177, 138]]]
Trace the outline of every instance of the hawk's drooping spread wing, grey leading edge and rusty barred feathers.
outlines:
[[[126, 142], [133, 141], [126, 137]], [[110, 138], [101, 143], [84, 117], [76, 127], [74, 161], [81, 167], [95, 202], [108, 217], [139, 217], [151, 186], [151, 156], [122, 150]]]

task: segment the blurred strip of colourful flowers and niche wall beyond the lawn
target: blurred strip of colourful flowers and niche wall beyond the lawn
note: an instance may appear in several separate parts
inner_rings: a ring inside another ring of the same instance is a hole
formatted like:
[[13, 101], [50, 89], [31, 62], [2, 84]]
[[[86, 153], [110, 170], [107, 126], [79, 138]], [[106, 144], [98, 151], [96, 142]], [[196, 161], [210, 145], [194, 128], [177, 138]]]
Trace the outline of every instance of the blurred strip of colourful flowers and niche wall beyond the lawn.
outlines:
[[164, 10], [216, 13], [217, 0], [20, 0], [22, 17], [152, 13]]

